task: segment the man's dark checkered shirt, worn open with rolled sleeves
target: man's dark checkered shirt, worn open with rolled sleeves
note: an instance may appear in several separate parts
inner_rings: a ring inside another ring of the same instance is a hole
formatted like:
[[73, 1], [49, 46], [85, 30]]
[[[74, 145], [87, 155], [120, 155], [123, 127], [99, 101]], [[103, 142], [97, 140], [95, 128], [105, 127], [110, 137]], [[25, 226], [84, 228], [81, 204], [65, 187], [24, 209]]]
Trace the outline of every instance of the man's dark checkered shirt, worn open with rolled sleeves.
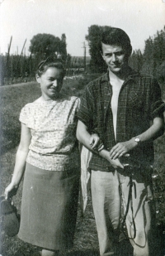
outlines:
[[[163, 117], [165, 108], [157, 80], [130, 69], [120, 89], [115, 142], [111, 96], [112, 87], [106, 73], [86, 86], [78, 111], [79, 120], [89, 132], [98, 133], [108, 151], [117, 142], [125, 142], [144, 133], [153, 118]], [[152, 164], [153, 141], [136, 147], [130, 152], [130, 157], [140, 164]], [[89, 167], [96, 171], [113, 171], [110, 163], [97, 154], [92, 155]]]

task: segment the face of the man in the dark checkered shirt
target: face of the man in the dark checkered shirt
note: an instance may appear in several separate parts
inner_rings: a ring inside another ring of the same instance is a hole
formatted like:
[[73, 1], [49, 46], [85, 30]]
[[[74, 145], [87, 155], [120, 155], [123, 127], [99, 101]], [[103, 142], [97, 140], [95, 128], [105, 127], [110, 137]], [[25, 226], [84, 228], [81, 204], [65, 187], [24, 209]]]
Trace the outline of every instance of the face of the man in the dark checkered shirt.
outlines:
[[127, 64], [125, 52], [121, 46], [110, 46], [101, 43], [102, 57], [106, 61], [108, 68], [113, 73], [118, 73]]

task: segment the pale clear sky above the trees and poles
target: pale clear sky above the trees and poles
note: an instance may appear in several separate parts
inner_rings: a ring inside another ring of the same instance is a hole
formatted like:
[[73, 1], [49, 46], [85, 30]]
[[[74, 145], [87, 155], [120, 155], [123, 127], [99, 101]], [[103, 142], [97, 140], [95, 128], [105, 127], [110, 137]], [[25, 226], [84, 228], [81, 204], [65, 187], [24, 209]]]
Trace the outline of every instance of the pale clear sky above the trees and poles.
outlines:
[[[21, 54], [38, 33], [67, 37], [71, 56], [83, 56], [83, 42], [92, 25], [120, 27], [134, 50], [165, 26], [165, 0], [0, 0], [0, 53]], [[88, 44], [87, 46], [87, 56]], [[24, 52], [25, 52], [24, 51]]]

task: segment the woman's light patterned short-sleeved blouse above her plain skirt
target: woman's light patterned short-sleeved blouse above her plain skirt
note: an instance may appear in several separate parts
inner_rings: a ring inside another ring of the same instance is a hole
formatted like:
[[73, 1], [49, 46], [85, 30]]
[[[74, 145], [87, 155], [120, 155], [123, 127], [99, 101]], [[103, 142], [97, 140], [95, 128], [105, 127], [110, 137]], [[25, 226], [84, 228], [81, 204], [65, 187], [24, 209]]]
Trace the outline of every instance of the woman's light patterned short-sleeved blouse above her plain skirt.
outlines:
[[35, 101], [21, 109], [20, 121], [31, 129], [26, 162], [49, 171], [78, 167], [76, 128], [80, 99]]

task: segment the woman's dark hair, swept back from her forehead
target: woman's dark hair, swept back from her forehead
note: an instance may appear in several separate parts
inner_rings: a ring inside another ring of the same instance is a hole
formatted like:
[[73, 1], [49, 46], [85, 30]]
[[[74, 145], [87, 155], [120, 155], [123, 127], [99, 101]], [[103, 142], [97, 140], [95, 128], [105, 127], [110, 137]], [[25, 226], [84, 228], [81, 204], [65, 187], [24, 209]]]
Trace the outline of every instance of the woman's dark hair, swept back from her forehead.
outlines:
[[56, 68], [58, 70], [62, 70], [63, 77], [66, 73], [64, 69], [64, 63], [63, 60], [54, 58], [54, 57], [48, 57], [46, 60], [40, 61], [37, 70], [36, 70], [36, 75], [42, 75], [48, 70], [49, 68]]

